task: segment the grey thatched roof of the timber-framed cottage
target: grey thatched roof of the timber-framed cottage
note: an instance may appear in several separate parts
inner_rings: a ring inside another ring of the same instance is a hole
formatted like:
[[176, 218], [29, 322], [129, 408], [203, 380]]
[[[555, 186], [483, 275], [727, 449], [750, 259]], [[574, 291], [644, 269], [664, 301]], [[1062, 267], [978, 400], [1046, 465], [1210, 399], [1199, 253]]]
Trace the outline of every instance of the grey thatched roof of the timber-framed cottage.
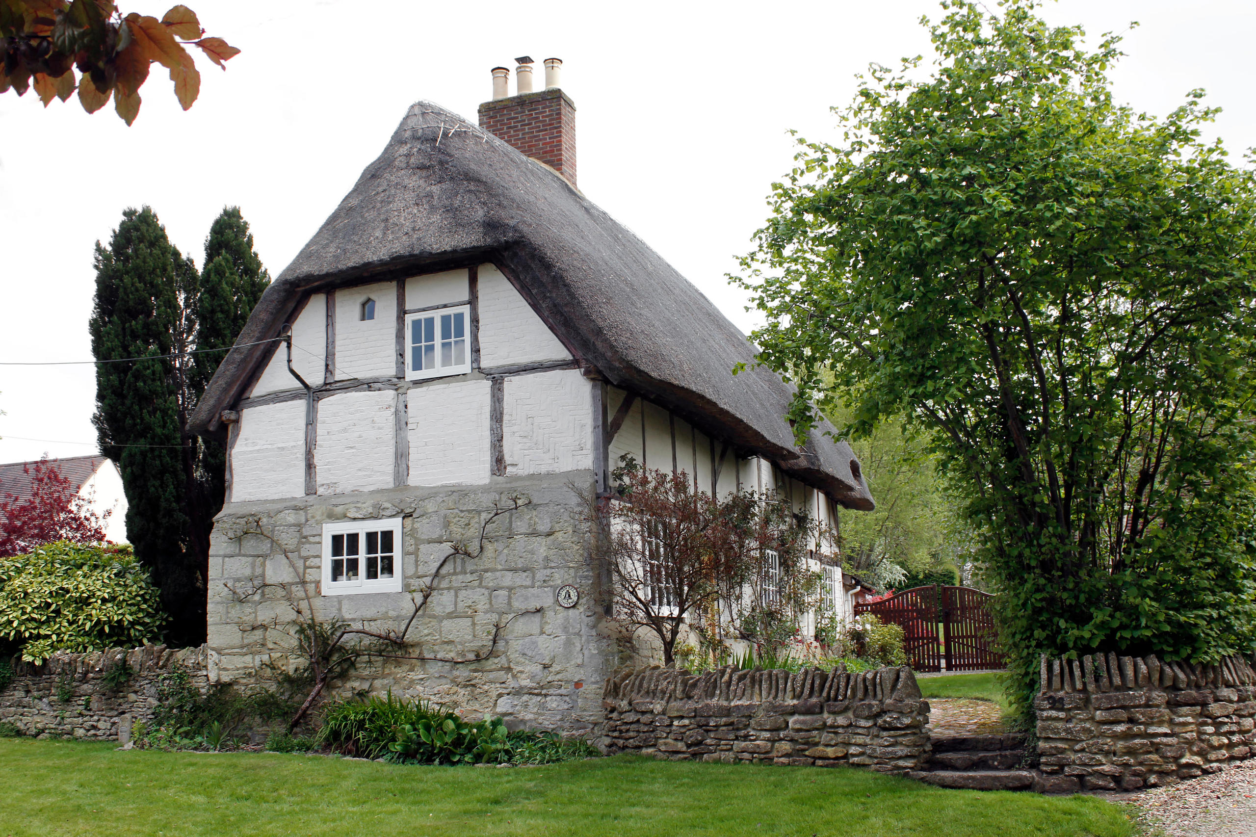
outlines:
[[[309, 292], [491, 261], [583, 364], [741, 449], [776, 460], [847, 506], [873, 499], [845, 442], [814, 431], [800, 450], [784, 420], [793, 388], [685, 276], [559, 173], [428, 102], [279, 279], [237, 343], [273, 338]], [[271, 347], [234, 348], [192, 416], [220, 435]], [[751, 368], [736, 377], [732, 368]]]

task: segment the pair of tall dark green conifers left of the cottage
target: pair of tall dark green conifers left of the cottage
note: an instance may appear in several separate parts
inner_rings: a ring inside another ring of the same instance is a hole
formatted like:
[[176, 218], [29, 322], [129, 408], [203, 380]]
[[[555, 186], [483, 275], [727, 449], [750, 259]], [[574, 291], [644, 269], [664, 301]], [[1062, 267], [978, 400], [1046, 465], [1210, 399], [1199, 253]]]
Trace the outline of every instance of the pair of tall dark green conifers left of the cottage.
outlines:
[[[187, 432], [187, 418], [224, 352], [270, 283], [239, 207], [226, 207], [205, 243], [205, 270], [170, 244], [148, 207], [127, 210], [108, 248], [97, 244], [92, 348], [100, 363], [100, 450], [119, 465], [131, 508], [127, 533], [171, 616], [170, 642], [205, 641], [210, 532], [222, 508], [226, 457]], [[196, 353], [193, 353], [196, 352]]]

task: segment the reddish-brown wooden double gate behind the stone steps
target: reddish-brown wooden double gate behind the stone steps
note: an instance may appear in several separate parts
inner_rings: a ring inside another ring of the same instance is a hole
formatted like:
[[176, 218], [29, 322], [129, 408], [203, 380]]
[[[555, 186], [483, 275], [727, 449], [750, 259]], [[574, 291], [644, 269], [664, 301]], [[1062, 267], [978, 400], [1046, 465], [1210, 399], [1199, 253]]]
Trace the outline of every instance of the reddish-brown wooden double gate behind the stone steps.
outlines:
[[1004, 657], [993, 650], [991, 598], [971, 587], [914, 587], [855, 604], [855, 615], [873, 613], [901, 626], [907, 661], [916, 671], [1002, 669]]

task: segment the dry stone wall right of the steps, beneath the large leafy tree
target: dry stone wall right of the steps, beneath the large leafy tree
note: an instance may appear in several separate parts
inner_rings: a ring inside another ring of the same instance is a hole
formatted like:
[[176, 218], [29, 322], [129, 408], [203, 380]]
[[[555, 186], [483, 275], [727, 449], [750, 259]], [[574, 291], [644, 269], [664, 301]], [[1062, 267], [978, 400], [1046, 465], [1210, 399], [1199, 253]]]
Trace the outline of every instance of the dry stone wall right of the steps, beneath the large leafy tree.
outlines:
[[1252, 754], [1256, 670], [1242, 657], [1044, 657], [1040, 676], [1039, 769], [1081, 789], [1173, 784]]

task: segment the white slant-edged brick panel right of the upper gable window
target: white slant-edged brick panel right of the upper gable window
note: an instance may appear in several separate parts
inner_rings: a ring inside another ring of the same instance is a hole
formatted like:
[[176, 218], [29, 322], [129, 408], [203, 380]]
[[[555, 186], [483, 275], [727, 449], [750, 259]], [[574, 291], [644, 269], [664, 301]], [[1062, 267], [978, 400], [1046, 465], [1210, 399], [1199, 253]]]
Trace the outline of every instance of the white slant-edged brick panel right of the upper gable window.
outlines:
[[565, 361], [571, 354], [515, 287], [491, 264], [480, 266], [480, 364]]

